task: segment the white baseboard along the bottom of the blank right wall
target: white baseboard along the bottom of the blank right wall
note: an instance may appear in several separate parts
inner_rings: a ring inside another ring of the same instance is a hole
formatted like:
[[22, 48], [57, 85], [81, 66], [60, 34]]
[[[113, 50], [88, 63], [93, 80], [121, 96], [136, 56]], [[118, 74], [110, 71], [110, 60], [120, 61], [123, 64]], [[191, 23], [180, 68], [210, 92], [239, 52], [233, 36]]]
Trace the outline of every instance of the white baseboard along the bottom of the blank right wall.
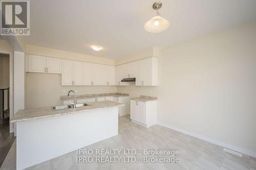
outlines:
[[223, 148], [227, 148], [227, 149], [230, 149], [230, 150], [233, 150], [233, 151], [236, 151], [236, 152], [240, 152], [242, 154], [245, 154], [245, 155], [252, 156], [252, 157], [256, 158], [256, 153], [253, 152], [253, 151], [249, 151], [247, 149], [240, 148], [240, 147], [237, 147], [237, 146], [234, 146], [234, 145], [231, 145], [231, 144], [228, 144], [228, 143], [216, 140], [216, 139], [212, 139], [212, 138], [209, 138], [209, 137], [206, 137], [206, 136], [194, 133], [194, 132], [189, 132], [189, 131], [186, 131], [186, 130], [183, 130], [183, 129], [180, 129], [180, 128], [172, 127], [172, 126], [170, 126], [168, 124], [165, 124], [165, 123], [158, 122], [157, 124], [161, 125], [163, 127], [166, 127], [166, 128], [169, 128], [169, 129], [173, 129], [175, 131], [187, 134], [189, 136], [193, 136], [193, 137], [205, 140], [207, 142], [220, 145]]

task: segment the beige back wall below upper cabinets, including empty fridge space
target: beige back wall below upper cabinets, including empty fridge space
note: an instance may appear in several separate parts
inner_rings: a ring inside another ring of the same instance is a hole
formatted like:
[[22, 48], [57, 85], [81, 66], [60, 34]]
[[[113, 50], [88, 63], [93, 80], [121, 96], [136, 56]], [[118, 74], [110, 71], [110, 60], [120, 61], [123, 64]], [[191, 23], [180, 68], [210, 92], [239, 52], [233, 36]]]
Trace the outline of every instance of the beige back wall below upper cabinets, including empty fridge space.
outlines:
[[[27, 72], [26, 109], [61, 105], [60, 95], [116, 92], [116, 86], [61, 86], [61, 75]], [[64, 93], [63, 90], [66, 90]]]

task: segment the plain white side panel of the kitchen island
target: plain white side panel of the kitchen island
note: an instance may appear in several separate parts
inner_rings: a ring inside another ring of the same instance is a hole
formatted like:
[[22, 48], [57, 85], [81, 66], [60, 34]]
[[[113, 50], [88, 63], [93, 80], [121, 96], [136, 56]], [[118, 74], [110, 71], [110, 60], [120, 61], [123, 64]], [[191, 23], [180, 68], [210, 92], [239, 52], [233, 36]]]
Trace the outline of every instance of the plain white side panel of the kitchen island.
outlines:
[[17, 123], [17, 169], [118, 135], [118, 107]]

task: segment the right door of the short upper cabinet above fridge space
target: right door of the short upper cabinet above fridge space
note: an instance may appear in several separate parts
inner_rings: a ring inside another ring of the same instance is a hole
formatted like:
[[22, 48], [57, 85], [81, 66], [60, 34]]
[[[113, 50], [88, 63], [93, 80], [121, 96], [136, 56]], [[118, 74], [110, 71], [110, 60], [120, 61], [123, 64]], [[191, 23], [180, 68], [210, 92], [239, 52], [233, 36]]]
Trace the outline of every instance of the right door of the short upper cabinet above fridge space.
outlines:
[[61, 74], [61, 61], [59, 58], [47, 57], [47, 72]]

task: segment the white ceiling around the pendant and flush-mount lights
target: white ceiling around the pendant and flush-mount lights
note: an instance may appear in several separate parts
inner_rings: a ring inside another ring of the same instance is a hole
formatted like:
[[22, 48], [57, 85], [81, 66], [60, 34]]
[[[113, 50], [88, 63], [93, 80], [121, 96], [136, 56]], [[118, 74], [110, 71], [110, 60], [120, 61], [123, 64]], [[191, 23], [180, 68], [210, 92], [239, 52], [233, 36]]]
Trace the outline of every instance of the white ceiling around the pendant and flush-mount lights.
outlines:
[[[255, 0], [161, 0], [170, 21], [162, 33], [148, 33], [155, 16], [151, 0], [33, 0], [26, 43], [111, 59], [153, 46], [169, 46], [256, 18]], [[95, 52], [90, 45], [100, 45]]]

